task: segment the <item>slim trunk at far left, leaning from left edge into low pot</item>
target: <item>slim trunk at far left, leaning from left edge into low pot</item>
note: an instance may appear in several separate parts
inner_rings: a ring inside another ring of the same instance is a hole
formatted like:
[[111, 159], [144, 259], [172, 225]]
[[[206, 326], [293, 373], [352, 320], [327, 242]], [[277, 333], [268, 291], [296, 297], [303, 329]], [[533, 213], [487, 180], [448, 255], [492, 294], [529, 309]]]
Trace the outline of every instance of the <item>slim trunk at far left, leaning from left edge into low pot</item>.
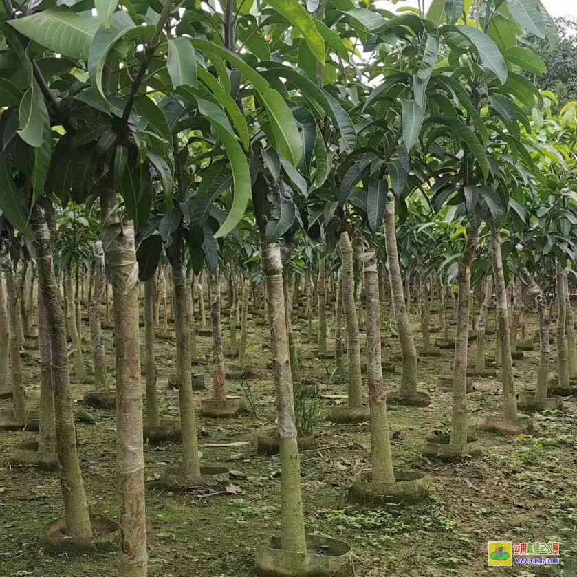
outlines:
[[12, 402], [14, 417], [19, 423], [25, 421], [24, 385], [22, 383], [22, 366], [20, 362], [20, 343], [18, 337], [18, 311], [16, 307], [16, 283], [14, 269], [8, 250], [0, 252], [0, 269], [6, 281], [6, 304], [8, 308], [8, 336], [10, 342], [10, 369], [12, 373]]

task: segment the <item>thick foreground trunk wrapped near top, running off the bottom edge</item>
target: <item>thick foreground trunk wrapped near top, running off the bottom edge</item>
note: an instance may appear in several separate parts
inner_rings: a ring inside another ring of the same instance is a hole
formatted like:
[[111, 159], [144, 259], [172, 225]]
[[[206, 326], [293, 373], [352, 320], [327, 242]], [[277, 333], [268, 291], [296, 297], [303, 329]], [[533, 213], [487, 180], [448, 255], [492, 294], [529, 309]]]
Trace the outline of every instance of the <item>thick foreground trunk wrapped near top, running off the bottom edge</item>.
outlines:
[[[146, 577], [146, 507], [138, 334], [138, 263], [131, 221], [121, 222], [116, 193], [100, 194], [102, 245], [110, 265], [116, 353], [118, 575]], [[190, 367], [189, 367], [190, 372]]]

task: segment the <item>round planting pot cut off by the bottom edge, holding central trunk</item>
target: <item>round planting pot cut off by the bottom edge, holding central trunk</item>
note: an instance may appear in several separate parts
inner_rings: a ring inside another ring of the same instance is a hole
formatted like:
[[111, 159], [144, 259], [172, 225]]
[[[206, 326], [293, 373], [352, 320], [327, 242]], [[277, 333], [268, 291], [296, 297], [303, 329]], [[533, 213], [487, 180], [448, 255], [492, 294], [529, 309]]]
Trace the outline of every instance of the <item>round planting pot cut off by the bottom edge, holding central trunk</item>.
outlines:
[[321, 535], [307, 535], [307, 552], [283, 551], [281, 538], [257, 547], [260, 577], [353, 577], [351, 546]]

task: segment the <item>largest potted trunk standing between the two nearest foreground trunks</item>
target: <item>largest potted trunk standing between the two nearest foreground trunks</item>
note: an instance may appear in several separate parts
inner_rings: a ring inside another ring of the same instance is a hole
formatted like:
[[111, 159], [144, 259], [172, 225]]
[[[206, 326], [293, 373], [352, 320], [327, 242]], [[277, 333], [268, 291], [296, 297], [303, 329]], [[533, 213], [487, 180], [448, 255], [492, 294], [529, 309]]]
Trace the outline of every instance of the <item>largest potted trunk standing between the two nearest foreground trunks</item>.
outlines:
[[[179, 254], [181, 248], [177, 248]], [[200, 478], [200, 462], [196, 433], [195, 398], [190, 372], [190, 317], [188, 294], [190, 284], [179, 257], [171, 257], [174, 287], [176, 370], [179, 382], [180, 428], [182, 435], [182, 481], [189, 483]]]

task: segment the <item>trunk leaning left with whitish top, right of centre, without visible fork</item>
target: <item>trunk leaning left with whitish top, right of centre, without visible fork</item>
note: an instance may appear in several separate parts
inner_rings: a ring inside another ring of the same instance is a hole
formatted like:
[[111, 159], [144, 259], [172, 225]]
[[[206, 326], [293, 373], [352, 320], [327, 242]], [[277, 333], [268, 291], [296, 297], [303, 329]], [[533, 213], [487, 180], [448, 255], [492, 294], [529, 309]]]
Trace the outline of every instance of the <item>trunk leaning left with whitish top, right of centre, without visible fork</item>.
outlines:
[[384, 209], [384, 238], [387, 247], [387, 263], [389, 264], [391, 299], [395, 309], [402, 356], [399, 394], [403, 398], [411, 398], [417, 393], [417, 351], [411, 334], [409, 313], [403, 298], [403, 283], [395, 234], [395, 197], [392, 193], [387, 196], [387, 205]]

